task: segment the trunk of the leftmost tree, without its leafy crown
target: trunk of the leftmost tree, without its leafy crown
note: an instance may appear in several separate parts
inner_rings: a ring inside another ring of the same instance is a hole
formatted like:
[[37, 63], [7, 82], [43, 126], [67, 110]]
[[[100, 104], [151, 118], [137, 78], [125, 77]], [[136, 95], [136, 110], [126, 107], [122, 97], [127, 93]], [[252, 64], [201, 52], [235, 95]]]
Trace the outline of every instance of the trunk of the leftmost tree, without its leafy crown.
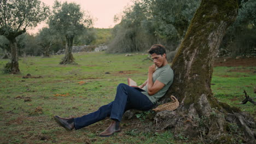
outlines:
[[5, 67], [4, 71], [6, 73], [11, 73], [11, 74], [19, 74], [20, 69], [19, 69], [19, 62], [18, 62], [18, 47], [15, 38], [14, 39], [8, 39], [10, 42], [10, 49], [11, 49], [11, 58], [10, 62], [8, 62]]

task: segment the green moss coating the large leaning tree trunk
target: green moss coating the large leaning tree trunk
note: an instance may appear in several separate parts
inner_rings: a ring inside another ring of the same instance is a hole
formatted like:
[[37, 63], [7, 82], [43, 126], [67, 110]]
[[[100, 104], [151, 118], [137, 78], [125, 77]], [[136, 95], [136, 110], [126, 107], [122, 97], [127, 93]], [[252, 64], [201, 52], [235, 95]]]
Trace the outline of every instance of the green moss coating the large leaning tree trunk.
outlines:
[[[209, 94], [208, 100], [211, 103], [211, 106], [221, 108], [217, 100], [211, 99], [212, 92], [210, 88], [211, 77], [213, 72], [213, 60], [214, 54], [217, 52], [217, 47], [214, 46], [214, 53], [210, 52], [210, 47], [208, 44], [210, 41], [208, 40], [209, 34], [219, 29], [220, 22], [227, 23], [228, 25], [234, 21], [234, 19], [230, 17], [236, 17], [236, 9], [237, 2], [233, 1], [202, 1], [199, 9], [197, 9], [193, 20], [191, 20], [188, 31], [182, 41], [181, 46], [176, 54], [176, 57], [173, 59], [172, 68], [174, 69], [174, 79], [178, 81], [178, 76], [186, 77], [185, 73], [187, 71], [187, 67], [184, 67], [185, 61], [190, 61], [191, 53], [197, 50], [197, 53], [194, 57], [194, 62], [191, 65], [191, 69], [189, 71], [189, 77], [193, 77], [198, 75], [195, 80], [184, 79], [179, 83], [173, 83], [174, 89], [179, 87], [179, 92], [174, 92], [177, 95], [181, 95], [179, 98], [183, 99], [185, 95], [187, 98], [184, 101], [184, 105], [190, 105], [192, 103], [195, 104], [195, 108], [199, 110], [200, 106], [197, 103], [200, 95]], [[214, 38], [222, 39], [223, 33], [217, 32]], [[219, 41], [219, 40], [217, 40]], [[216, 45], [219, 43], [215, 43]], [[187, 54], [189, 52], [189, 54]], [[183, 54], [184, 53], [184, 54]], [[202, 67], [203, 66], [203, 67]], [[175, 82], [175, 80], [174, 80]], [[207, 87], [208, 86], [208, 87]], [[182, 89], [182, 90], [181, 90]], [[209, 99], [210, 98], [210, 99]]]

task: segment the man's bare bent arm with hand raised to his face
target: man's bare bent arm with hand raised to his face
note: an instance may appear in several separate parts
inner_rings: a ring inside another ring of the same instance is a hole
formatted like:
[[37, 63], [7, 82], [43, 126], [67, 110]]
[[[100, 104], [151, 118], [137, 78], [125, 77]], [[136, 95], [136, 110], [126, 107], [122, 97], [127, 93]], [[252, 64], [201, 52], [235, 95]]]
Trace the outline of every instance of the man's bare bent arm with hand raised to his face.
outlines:
[[162, 89], [165, 84], [156, 80], [153, 83], [153, 73], [155, 72], [155, 64], [151, 65], [148, 68], [148, 94], [149, 95], [154, 95], [155, 93], [157, 93], [158, 91], [160, 91], [160, 89]]

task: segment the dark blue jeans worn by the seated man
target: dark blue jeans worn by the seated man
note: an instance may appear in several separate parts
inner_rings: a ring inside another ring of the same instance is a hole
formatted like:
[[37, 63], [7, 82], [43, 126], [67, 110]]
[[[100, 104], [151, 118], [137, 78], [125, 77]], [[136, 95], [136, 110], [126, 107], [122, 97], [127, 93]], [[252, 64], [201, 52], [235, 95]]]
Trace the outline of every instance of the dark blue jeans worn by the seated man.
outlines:
[[75, 129], [80, 129], [101, 121], [106, 117], [120, 122], [126, 110], [137, 109], [147, 111], [152, 109], [153, 106], [154, 104], [146, 95], [133, 87], [120, 83], [117, 87], [117, 94], [115, 95], [114, 101], [101, 106], [100, 109], [88, 115], [74, 118], [74, 127]]

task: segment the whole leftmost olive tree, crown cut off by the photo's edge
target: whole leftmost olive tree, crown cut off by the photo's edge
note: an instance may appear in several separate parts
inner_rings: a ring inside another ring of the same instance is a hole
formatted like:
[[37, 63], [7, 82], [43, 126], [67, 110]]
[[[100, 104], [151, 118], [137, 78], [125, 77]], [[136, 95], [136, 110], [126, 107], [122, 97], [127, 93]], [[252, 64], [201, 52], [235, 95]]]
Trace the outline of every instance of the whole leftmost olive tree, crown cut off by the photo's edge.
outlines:
[[7, 73], [20, 73], [16, 37], [26, 32], [29, 27], [37, 26], [46, 19], [49, 8], [39, 0], [2, 0], [0, 1], [0, 35], [9, 40], [11, 49], [10, 62], [5, 65]]

